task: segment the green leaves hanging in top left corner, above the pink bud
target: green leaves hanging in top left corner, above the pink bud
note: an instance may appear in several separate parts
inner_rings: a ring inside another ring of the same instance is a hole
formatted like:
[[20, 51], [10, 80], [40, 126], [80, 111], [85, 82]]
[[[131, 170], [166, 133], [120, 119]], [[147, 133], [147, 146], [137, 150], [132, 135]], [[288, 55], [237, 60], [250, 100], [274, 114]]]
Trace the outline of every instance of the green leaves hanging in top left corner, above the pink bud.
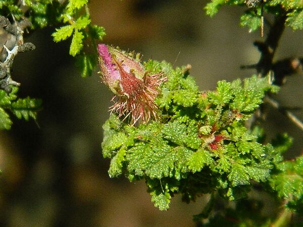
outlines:
[[[67, 0], [63, 4], [55, 0], [25, 0], [18, 4], [16, 2], [18, 1], [0, 1], [0, 14], [13, 15], [17, 20], [30, 15], [27, 19], [31, 22], [32, 29], [61, 25], [52, 34], [54, 41], [71, 40], [69, 53], [77, 56], [77, 66], [81, 70], [81, 76], [91, 75], [98, 60], [95, 42], [103, 39], [105, 29], [91, 24], [87, 8], [88, 0]], [[93, 52], [89, 53], [83, 49], [84, 42], [86, 46], [92, 47]]]

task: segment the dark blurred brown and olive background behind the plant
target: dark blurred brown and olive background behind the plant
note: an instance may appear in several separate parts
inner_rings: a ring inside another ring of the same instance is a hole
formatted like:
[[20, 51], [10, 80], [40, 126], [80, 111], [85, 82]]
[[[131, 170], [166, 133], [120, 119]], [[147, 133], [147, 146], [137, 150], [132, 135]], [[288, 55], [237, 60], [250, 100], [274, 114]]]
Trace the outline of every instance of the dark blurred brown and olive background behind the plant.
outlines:
[[[92, 0], [89, 8], [93, 23], [106, 29], [104, 43], [141, 52], [145, 61], [191, 64], [200, 89], [210, 90], [218, 80], [254, 74], [239, 67], [258, 62], [252, 43], [262, 38], [238, 26], [244, 8], [224, 7], [210, 18], [207, 2]], [[176, 196], [168, 211], [159, 211], [144, 182], [109, 178], [100, 144], [113, 94], [96, 72], [80, 77], [68, 55], [71, 40], [54, 43], [52, 32], [27, 35], [36, 49], [14, 61], [20, 97], [41, 98], [43, 110], [37, 123], [13, 119], [12, 130], [0, 131], [0, 226], [194, 226], [203, 198], [185, 204]], [[302, 37], [286, 29], [275, 59], [302, 56]], [[302, 75], [289, 77], [275, 99], [303, 107], [302, 82]], [[295, 114], [303, 119], [302, 110]], [[286, 158], [302, 152], [302, 132], [279, 112], [272, 110], [265, 125], [269, 135], [294, 138]]]

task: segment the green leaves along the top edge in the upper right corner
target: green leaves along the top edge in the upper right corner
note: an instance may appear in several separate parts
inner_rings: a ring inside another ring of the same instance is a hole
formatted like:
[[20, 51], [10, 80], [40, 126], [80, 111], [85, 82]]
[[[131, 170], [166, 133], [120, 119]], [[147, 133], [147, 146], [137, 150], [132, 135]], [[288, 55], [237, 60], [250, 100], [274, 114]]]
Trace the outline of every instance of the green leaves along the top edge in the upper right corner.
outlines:
[[[214, 16], [223, 5], [245, 6], [244, 0], [212, 0], [205, 7], [206, 13]], [[262, 10], [273, 15], [284, 15], [287, 18], [285, 25], [292, 29], [303, 29], [303, 3], [300, 0], [268, 0], [256, 4], [255, 8], [246, 7], [240, 18], [240, 25], [246, 26], [250, 31], [255, 31], [261, 26]]]

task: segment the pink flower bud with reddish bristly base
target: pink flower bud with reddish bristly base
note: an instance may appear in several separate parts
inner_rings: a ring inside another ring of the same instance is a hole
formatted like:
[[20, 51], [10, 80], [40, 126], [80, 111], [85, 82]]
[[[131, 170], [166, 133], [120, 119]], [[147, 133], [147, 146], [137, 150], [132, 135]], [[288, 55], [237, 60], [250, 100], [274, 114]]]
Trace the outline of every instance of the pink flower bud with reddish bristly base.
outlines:
[[113, 47], [98, 44], [97, 49], [101, 78], [118, 97], [111, 112], [124, 116], [123, 120], [130, 116], [133, 125], [158, 120], [155, 98], [166, 80], [163, 74], [149, 75], [137, 60]]

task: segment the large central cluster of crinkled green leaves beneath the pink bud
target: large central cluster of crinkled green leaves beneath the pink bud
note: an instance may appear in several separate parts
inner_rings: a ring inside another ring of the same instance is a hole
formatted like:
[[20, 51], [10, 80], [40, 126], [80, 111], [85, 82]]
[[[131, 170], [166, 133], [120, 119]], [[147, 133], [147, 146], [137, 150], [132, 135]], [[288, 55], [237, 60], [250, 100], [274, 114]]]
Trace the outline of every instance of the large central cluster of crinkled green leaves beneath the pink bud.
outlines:
[[161, 120], [130, 126], [111, 115], [102, 144], [111, 177], [145, 179], [161, 210], [175, 193], [188, 202], [214, 191], [234, 200], [246, 196], [251, 182], [270, 178], [280, 151], [258, 143], [244, 126], [265, 92], [277, 90], [268, 78], [219, 81], [216, 91], [201, 93], [183, 68], [149, 61], [145, 70], [168, 77], [156, 100]]

